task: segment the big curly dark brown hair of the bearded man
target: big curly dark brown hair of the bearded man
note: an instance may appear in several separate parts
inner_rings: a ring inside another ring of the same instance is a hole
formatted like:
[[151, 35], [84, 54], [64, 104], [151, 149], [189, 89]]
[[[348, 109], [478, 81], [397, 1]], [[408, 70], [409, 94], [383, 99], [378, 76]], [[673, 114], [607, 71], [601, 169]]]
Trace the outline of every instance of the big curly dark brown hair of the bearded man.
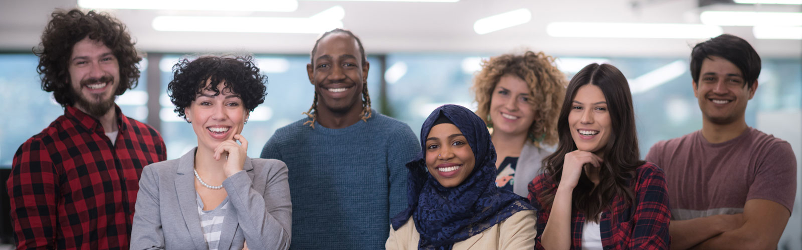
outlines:
[[136, 63], [142, 56], [136, 52], [131, 35], [125, 25], [117, 18], [95, 10], [84, 14], [78, 9], [55, 10], [51, 14], [42, 34], [42, 42], [33, 48], [39, 57], [36, 71], [42, 79], [42, 90], [53, 92], [56, 102], [61, 106], [72, 106], [75, 97], [70, 95], [70, 72], [68, 62], [72, 47], [83, 38], [103, 42], [111, 49], [119, 63], [119, 87], [115, 95], [123, 95], [139, 83], [140, 69]]

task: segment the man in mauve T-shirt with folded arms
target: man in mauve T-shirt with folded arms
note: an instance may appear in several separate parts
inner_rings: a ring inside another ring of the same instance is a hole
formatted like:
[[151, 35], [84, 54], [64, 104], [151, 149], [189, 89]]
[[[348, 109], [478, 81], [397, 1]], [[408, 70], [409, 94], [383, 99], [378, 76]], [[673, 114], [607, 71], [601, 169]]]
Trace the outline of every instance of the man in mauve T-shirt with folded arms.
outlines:
[[796, 196], [791, 145], [748, 127], [760, 57], [722, 34], [691, 52], [702, 129], [651, 147], [646, 161], [666, 172], [672, 249], [775, 249]]

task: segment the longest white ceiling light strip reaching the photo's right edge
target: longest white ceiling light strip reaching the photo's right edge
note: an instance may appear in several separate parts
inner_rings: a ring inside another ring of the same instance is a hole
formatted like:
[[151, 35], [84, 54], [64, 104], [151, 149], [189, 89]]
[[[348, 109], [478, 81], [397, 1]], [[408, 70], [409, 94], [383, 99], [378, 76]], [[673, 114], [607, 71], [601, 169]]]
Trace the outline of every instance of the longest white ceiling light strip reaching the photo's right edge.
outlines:
[[699, 19], [720, 26], [802, 26], [800, 12], [704, 11]]

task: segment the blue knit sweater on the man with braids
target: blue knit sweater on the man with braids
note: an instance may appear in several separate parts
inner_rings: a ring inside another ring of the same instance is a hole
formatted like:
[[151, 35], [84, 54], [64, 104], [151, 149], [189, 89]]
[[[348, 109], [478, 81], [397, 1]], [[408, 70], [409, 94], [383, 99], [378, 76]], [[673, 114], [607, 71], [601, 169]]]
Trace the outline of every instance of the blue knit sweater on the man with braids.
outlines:
[[373, 111], [341, 129], [301, 119], [279, 128], [261, 158], [289, 170], [290, 249], [383, 249], [390, 218], [407, 206], [406, 163], [420, 151], [406, 123]]

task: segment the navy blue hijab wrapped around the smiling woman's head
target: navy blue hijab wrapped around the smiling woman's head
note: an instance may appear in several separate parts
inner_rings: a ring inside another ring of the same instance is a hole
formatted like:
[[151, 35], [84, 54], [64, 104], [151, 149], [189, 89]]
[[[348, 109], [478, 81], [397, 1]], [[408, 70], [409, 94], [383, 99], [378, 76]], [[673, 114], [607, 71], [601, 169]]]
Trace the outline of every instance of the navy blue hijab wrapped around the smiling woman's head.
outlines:
[[[476, 157], [473, 172], [460, 185], [445, 188], [426, 168], [426, 139], [435, 121], [444, 115], [468, 139]], [[506, 220], [512, 214], [533, 209], [523, 197], [496, 188], [496, 148], [490, 133], [473, 111], [457, 105], [440, 106], [420, 128], [421, 151], [407, 163], [409, 207], [391, 220], [398, 230], [414, 216], [420, 234], [419, 249], [451, 249], [485, 229]]]

